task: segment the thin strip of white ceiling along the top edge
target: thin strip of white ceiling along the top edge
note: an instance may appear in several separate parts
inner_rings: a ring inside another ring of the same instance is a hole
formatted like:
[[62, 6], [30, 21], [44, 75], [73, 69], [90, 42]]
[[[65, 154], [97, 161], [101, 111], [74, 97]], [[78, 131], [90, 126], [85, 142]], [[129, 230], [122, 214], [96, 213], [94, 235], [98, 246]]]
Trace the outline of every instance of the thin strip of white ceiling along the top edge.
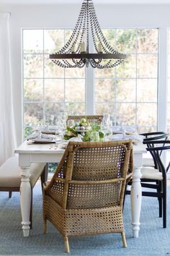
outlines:
[[[0, 4], [81, 4], [83, 0], [0, 0]], [[170, 4], [170, 0], [94, 0], [94, 4]]]

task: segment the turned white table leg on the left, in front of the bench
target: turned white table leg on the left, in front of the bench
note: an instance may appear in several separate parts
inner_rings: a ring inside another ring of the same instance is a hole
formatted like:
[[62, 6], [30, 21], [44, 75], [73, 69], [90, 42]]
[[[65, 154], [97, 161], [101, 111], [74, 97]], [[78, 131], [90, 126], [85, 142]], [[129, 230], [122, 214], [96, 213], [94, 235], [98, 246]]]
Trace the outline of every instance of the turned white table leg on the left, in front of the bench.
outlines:
[[29, 236], [31, 207], [30, 167], [21, 168], [20, 204], [22, 211], [22, 230], [24, 236]]

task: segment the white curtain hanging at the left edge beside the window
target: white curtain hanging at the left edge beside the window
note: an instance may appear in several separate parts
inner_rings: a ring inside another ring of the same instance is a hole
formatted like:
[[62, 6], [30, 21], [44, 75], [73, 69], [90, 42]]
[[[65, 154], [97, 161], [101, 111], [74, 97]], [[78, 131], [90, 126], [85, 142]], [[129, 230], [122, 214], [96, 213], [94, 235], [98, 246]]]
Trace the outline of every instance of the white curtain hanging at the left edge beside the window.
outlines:
[[16, 149], [12, 70], [9, 46], [9, 13], [0, 12], [0, 166]]

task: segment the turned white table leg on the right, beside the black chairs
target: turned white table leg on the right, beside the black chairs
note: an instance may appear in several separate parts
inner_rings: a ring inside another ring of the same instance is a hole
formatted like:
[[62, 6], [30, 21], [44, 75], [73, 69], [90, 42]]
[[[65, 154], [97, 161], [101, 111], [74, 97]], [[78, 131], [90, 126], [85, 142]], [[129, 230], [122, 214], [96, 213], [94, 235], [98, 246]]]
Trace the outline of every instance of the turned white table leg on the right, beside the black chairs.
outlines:
[[131, 187], [131, 210], [132, 210], [132, 226], [133, 226], [133, 237], [138, 237], [140, 229], [140, 209], [142, 200], [142, 189], [140, 184], [140, 167], [135, 168], [133, 173], [133, 184]]

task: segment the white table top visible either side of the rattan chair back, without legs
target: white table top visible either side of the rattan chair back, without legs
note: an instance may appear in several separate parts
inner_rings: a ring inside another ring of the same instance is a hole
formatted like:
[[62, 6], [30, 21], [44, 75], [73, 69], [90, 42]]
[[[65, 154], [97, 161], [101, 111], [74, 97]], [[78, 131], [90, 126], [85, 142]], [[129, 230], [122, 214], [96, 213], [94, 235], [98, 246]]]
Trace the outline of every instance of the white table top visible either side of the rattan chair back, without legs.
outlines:
[[[56, 147], [55, 143], [42, 143], [42, 144], [27, 144], [27, 141], [24, 141], [14, 153], [19, 154], [30, 154], [30, 153], [63, 153], [65, 148], [61, 148], [60, 145]], [[135, 154], [146, 153], [146, 145], [143, 143], [138, 143], [138, 145], [133, 145], [133, 152]]]

